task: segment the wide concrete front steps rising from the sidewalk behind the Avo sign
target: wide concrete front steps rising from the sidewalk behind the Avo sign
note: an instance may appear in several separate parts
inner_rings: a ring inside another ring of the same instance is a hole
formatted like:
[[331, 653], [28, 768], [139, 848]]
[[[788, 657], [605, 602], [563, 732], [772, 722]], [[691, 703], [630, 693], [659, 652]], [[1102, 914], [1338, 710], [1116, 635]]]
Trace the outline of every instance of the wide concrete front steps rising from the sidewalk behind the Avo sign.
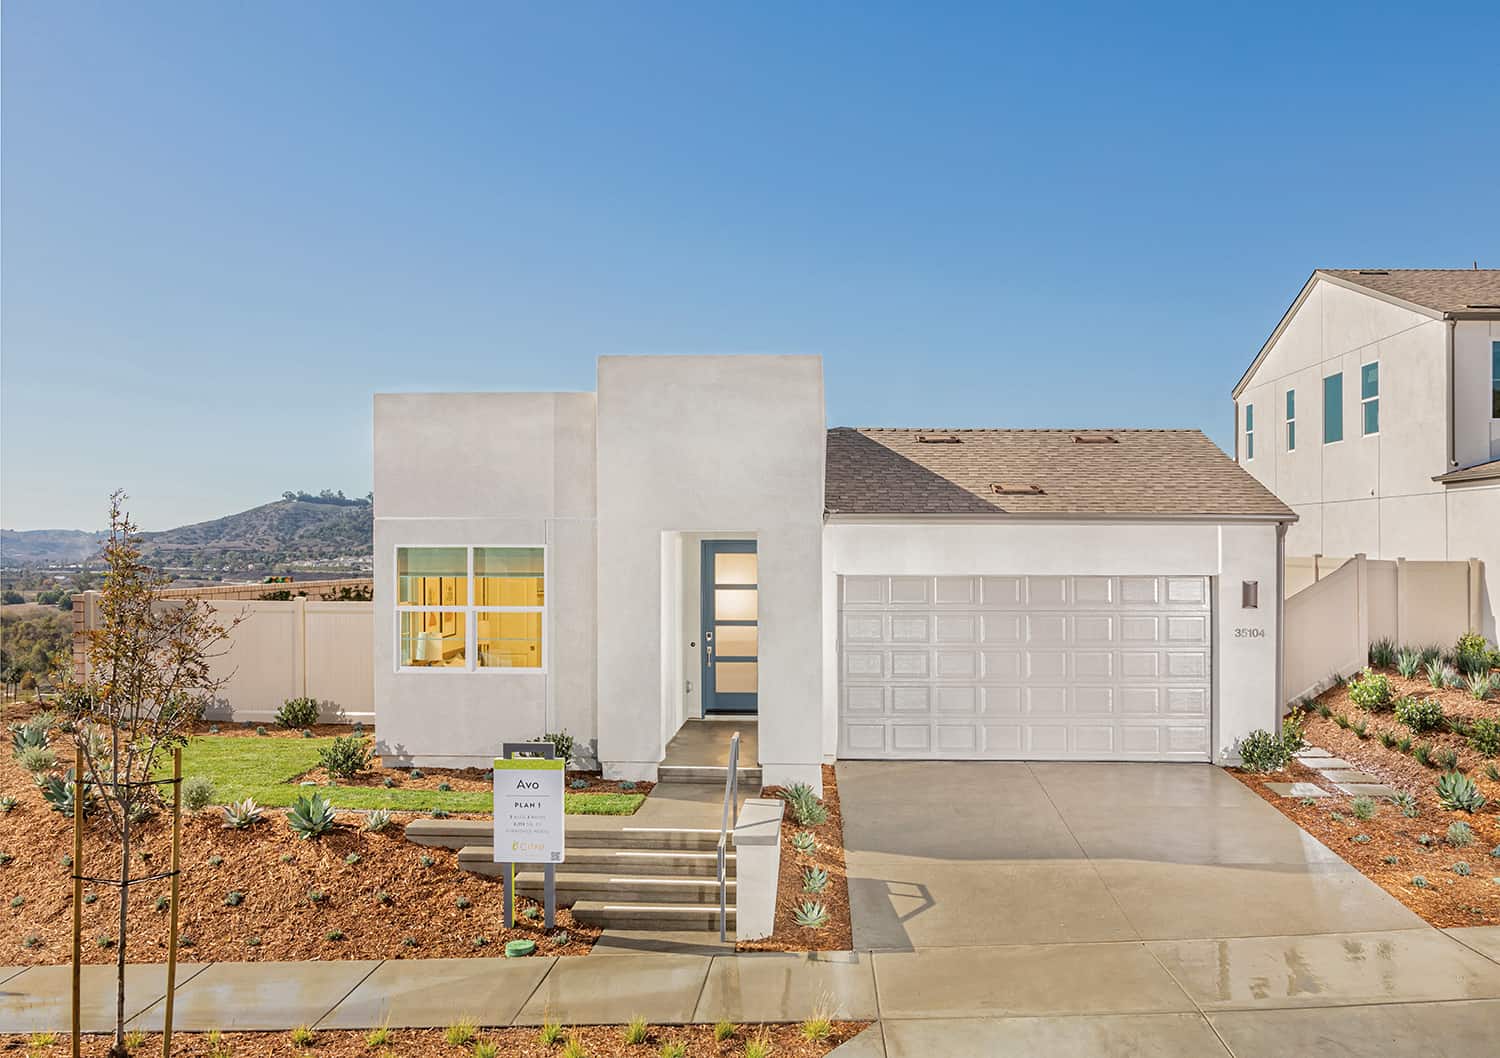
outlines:
[[[416, 819], [406, 839], [458, 849], [459, 866], [498, 876], [494, 824], [486, 819]], [[556, 869], [558, 905], [579, 921], [606, 929], [717, 930], [718, 831], [694, 827], [621, 827], [618, 819], [568, 816], [567, 860]], [[734, 923], [735, 854], [726, 857], [729, 923]], [[543, 869], [516, 873], [520, 896], [542, 899]]]

